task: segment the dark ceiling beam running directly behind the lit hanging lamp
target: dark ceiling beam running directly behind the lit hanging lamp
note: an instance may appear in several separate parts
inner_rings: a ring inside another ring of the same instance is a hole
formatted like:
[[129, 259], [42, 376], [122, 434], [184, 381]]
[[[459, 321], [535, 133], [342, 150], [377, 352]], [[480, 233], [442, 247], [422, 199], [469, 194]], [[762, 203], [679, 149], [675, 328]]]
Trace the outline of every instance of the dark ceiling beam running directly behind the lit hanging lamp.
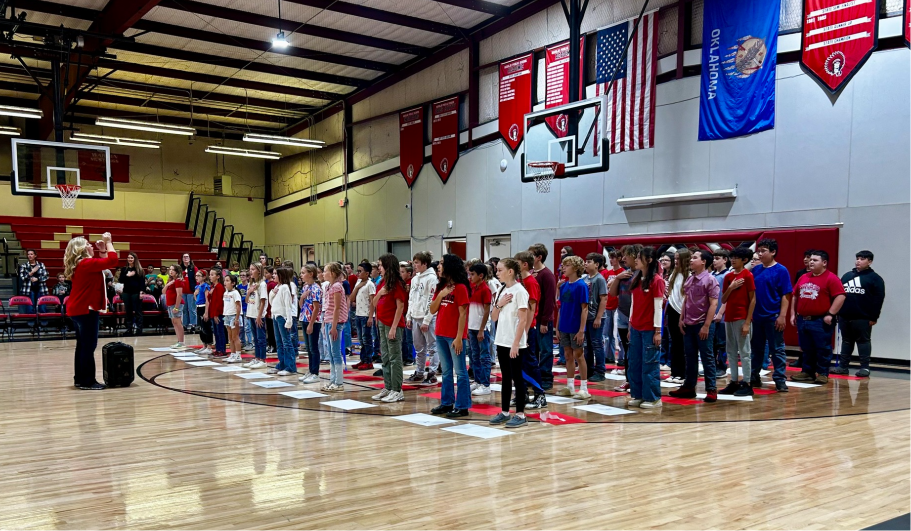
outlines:
[[[77, 18], [80, 20], [95, 20], [97, 15], [101, 13], [95, 9], [78, 7], [76, 5], [57, 4], [56, 2], [48, 2], [47, 0], [29, 0], [28, 9], [30, 11], [37, 11], [38, 13], [60, 15], [66, 16], [67, 18]], [[179, 36], [183, 38], [198, 40], [201, 42], [225, 46], [239, 46], [241, 48], [259, 50], [261, 52], [271, 51], [283, 56], [302, 57], [313, 59], [315, 61], [322, 61], [324, 63], [355, 66], [358, 68], [376, 70], [379, 72], [389, 72], [395, 69], [395, 65], [390, 63], [383, 63], [381, 61], [371, 61], [369, 59], [362, 59], [359, 57], [332, 54], [328, 52], [322, 52], [320, 50], [302, 48], [299, 46], [288, 46], [283, 50], [272, 49], [272, 44], [269, 41], [261, 41], [241, 36], [231, 36], [224, 33], [205, 31], [188, 26], [165, 24], [163, 22], [156, 22], [154, 20], [139, 20], [136, 24], [133, 25], [133, 28], [141, 31], [148, 31], [151, 33], [159, 33], [161, 35]]]

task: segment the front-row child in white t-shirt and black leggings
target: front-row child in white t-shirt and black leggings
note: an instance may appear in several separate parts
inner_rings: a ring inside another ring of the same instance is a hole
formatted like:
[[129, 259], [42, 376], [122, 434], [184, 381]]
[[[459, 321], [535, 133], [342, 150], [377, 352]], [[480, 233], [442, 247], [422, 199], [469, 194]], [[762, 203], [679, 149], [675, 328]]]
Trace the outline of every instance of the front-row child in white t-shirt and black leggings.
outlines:
[[[518, 261], [505, 258], [496, 264], [496, 276], [503, 283], [496, 294], [493, 304], [493, 320], [496, 321], [496, 357], [500, 362], [503, 372], [503, 388], [500, 397], [503, 402], [503, 411], [490, 420], [490, 424], [504, 424], [507, 428], [517, 428], [527, 424], [525, 418], [526, 393], [525, 378], [522, 376], [522, 359], [531, 355], [527, 346], [528, 323], [531, 315], [528, 311], [528, 291], [518, 280], [522, 278], [522, 270]], [[516, 415], [509, 416], [509, 399], [516, 393]]]

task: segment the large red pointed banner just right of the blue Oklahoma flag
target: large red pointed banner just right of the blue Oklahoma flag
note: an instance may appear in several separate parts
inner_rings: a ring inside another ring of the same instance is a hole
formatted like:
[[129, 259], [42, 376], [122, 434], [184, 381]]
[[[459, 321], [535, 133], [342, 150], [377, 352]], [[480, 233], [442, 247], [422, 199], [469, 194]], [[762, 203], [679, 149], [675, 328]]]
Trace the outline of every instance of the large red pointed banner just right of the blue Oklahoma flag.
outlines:
[[836, 94], [876, 49], [877, 0], [804, 0], [800, 65]]

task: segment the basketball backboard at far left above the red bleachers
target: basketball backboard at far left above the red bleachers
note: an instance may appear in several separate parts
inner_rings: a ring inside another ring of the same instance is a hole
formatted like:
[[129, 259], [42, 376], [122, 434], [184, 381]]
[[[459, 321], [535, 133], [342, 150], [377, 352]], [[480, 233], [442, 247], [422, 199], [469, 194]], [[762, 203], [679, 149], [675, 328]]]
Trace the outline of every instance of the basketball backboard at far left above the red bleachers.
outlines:
[[79, 199], [114, 199], [110, 149], [69, 142], [12, 139], [11, 191], [59, 197], [58, 184], [82, 187]]

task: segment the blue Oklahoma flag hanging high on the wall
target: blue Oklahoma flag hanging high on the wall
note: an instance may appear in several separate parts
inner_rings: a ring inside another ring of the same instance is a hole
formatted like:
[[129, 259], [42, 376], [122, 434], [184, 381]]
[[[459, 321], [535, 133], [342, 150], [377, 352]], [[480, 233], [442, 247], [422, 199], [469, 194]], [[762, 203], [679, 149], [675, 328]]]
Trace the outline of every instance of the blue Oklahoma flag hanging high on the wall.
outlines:
[[781, 0], [705, 0], [699, 139], [775, 127]]

